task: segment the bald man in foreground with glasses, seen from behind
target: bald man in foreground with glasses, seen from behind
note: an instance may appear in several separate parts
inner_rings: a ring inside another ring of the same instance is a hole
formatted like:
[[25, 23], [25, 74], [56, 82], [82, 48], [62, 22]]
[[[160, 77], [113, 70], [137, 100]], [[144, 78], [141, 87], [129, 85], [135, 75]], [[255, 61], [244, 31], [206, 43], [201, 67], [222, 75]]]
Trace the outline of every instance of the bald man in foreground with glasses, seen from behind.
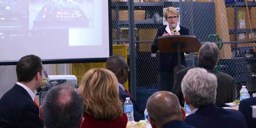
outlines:
[[178, 97], [169, 91], [158, 91], [147, 100], [148, 121], [152, 128], [195, 128], [184, 122], [186, 111]]

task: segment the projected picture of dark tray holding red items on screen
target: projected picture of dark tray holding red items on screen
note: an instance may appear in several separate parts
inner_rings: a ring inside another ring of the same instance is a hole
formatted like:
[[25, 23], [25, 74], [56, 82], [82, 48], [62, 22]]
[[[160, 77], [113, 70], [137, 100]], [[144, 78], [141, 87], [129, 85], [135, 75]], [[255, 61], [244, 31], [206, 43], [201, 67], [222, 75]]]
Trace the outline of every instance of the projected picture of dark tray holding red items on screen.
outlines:
[[30, 0], [30, 29], [92, 27], [93, 0]]

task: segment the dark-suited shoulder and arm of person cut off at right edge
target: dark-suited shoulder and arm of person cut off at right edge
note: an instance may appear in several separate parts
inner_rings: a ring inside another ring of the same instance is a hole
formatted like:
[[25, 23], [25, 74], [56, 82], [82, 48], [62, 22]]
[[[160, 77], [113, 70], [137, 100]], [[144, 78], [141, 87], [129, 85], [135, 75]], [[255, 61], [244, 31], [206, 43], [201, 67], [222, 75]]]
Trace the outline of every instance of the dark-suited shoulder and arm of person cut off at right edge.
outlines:
[[245, 119], [248, 124], [248, 128], [256, 127], [256, 118], [252, 118], [252, 112], [250, 111], [250, 106], [256, 105], [256, 97], [251, 97], [248, 99], [244, 99], [239, 104], [239, 111], [242, 112], [245, 116]]

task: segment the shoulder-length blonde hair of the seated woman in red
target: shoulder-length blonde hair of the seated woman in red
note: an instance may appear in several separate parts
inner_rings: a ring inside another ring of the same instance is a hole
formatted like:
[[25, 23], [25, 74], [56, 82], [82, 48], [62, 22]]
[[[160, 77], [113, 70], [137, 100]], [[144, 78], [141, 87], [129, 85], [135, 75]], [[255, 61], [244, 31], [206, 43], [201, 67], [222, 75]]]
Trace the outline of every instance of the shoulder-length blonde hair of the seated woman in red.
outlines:
[[84, 112], [90, 116], [114, 120], [123, 115], [117, 78], [110, 70], [90, 69], [83, 75], [78, 91], [83, 96]]

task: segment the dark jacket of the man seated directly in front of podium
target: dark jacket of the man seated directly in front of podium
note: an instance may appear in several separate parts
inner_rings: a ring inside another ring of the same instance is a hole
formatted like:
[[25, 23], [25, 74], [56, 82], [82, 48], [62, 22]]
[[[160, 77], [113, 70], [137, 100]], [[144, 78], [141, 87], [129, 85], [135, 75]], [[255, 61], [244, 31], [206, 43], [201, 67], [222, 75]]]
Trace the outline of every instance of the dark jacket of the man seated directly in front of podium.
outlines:
[[[225, 103], [233, 102], [236, 98], [236, 82], [233, 77], [227, 75], [223, 72], [215, 71], [206, 67], [204, 65], [198, 65], [197, 67], [205, 68], [208, 72], [214, 74], [217, 77], [217, 95], [215, 105], [218, 107], [226, 107]], [[187, 74], [188, 70], [191, 68], [185, 68], [176, 74], [176, 79], [174, 80], [174, 86], [172, 92], [177, 95], [180, 105], [184, 106], [184, 97], [181, 91], [181, 82], [184, 76]]]

